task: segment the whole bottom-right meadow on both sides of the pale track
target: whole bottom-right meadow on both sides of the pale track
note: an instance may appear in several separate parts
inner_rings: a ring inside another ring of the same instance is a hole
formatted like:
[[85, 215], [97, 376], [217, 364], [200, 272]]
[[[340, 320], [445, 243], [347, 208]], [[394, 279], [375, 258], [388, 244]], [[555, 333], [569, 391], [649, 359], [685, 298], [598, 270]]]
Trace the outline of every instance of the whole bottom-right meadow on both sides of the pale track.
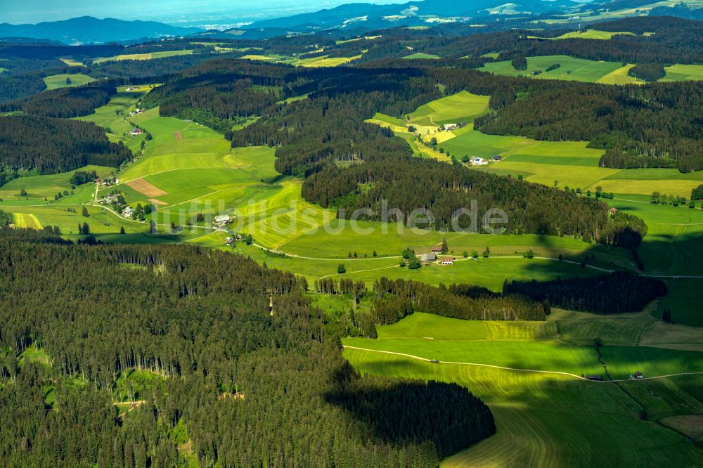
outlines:
[[[610, 333], [620, 341], [601, 349], [611, 375], [627, 378], [635, 368], [647, 376], [686, 372], [687, 365], [689, 372], [699, 370], [702, 353], [634, 346], [656, 325], [647, 313], [596, 316], [556, 310], [545, 322], [468, 321], [415, 313], [378, 327], [378, 339], [344, 339], [344, 344], [442, 361], [605, 377], [593, 340]], [[697, 332], [700, 339], [703, 332]], [[574, 335], [583, 344], [574, 344]], [[456, 382], [488, 403], [497, 434], [444, 460], [446, 467], [639, 466], [669, 457], [681, 466], [693, 466], [703, 457], [683, 434], [656, 422], [701, 412], [700, 375], [611, 384], [543, 372], [434, 364], [349, 347], [344, 356], [363, 374]], [[646, 420], [639, 418], [643, 409]]]

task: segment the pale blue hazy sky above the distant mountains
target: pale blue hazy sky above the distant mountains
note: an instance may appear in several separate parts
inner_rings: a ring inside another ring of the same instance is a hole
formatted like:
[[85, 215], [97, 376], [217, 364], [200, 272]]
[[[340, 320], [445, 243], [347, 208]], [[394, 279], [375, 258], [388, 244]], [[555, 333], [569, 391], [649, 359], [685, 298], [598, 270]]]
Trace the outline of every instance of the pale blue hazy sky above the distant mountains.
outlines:
[[120, 20], [160, 21], [176, 26], [231, 25], [265, 18], [295, 15], [342, 4], [401, 4], [407, 0], [0, 0], [0, 22], [34, 24], [79, 16]]

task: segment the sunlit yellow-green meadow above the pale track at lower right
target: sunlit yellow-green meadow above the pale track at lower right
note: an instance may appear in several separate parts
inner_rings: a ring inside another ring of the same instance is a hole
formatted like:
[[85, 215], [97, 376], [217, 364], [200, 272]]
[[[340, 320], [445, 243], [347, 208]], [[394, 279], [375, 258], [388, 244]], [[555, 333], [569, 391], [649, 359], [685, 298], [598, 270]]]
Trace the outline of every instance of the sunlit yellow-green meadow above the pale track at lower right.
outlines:
[[[596, 338], [603, 339], [601, 335], [620, 321], [624, 327], [619, 327], [619, 332], [610, 332], [608, 344], [600, 348], [610, 378], [628, 379], [637, 370], [645, 377], [703, 372], [703, 353], [699, 351], [636, 346], [643, 330], [654, 322], [643, 314], [638, 314], [635, 320], [626, 315], [617, 318], [583, 315], [559, 311], [541, 323], [495, 323], [418, 313], [394, 325], [377, 327], [378, 339], [348, 338], [344, 344], [428, 360], [567, 372], [577, 377], [600, 375], [606, 379], [593, 342]], [[562, 330], [567, 330], [566, 337]], [[703, 331], [697, 330], [696, 336], [703, 339]]]

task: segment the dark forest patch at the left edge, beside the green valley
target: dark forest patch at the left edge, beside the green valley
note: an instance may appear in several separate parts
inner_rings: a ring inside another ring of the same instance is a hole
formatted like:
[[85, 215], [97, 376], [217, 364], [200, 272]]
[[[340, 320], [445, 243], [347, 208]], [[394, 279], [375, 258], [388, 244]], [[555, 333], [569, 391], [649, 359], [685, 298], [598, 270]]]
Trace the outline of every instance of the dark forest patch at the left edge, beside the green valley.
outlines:
[[121, 142], [108, 141], [105, 130], [95, 124], [51, 117], [3, 117], [0, 142], [6, 181], [20, 169], [53, 174], [87, 164], [118, 167], [133, 157]]

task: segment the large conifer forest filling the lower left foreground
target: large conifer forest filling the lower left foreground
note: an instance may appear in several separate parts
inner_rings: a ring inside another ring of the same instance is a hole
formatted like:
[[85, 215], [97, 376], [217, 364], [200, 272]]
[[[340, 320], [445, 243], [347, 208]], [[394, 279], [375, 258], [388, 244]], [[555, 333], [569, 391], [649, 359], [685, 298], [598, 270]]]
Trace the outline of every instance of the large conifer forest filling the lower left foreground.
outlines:
[[[357, 375], [304, 287], [228, 252], [0, 229], [0, 459], [436, 467], [494, 433], [460, 386]], [[118, 410], [130, 374], [153, 383]]]

